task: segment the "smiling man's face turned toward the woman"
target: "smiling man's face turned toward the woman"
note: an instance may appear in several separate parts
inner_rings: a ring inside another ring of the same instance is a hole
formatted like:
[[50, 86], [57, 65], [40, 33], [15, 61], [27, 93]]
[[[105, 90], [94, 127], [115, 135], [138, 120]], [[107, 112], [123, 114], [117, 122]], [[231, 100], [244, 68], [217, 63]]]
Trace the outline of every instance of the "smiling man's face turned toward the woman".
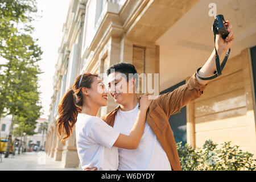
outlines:
[[131, 91], [134, 90], [133, 85], [134, 78], [127, 82], [126, 76], [123, 73], [113, 72], [108, 76], [109, 94], [118, 104], [126, 102], [128, 94], [133, 94], [133, 91]]

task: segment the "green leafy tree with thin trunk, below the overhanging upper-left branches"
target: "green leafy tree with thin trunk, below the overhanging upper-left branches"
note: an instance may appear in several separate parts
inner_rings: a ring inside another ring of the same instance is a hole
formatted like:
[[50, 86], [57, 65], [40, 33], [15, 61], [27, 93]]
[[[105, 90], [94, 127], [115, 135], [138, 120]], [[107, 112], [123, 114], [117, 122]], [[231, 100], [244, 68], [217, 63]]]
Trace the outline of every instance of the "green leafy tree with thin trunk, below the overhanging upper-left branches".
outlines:
[[[28, 36], [22, 36], [19, 40], [27, 37]], [[22, 44], [20, 44], [20, 47], [21, 45]], [[20, 48], [17, 44], [15, 47]], [[18, 51], [20, 51], [20, 49], [18, 49]], [[21, 52], [23, 53], [15, 52], [16, 54], [9, 55], [13, 57], [5, 64], [6, 69], [4, 73], [6, 77], [4, 78], [4, 87], [7, 98], [7, 114], [13, 115], [13, 117], [26, 118], [28, 124], [36, 125], [35, 121], [40, 116], [40, 109], [42, 108], [39, 102], [40, 93], [38, 92], [37, 77], [41, 72], [38, 66], [34, 65], [35, 60], [32, 59], [40, 60], [40, 57], [36, 57], [40, 49], [33, 47], [32, 49], [23, 49]], [[35, 54], [33, 55], [34, 52]], [[19, 56], [19, 53], [22, 56]], [[13, 121], [12, 119], [10, 135], [13, 129]], [[9, 138], [11, 138], [11, 136]], [[7, 144], [6, 157], [9, 155], [9, 143]]]

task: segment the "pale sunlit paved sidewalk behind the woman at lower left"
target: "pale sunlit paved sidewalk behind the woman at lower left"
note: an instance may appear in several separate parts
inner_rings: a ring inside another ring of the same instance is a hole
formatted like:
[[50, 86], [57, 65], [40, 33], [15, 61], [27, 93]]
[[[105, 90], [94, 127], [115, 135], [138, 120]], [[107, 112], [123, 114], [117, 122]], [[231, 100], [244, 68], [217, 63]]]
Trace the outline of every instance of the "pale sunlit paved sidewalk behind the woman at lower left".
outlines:
[[81, 168], [63, 168], [60, 161], [55, 161], [45, 152], [24, 152], [0, 159], [0, 171], [81, 171]]

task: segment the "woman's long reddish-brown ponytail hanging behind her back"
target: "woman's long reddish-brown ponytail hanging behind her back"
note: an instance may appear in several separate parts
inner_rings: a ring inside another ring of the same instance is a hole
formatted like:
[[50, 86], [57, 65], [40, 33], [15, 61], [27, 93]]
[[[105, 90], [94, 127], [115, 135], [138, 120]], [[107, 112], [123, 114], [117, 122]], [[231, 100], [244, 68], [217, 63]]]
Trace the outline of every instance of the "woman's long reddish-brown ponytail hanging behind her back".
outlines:
[[69, 138], [72, 135], [73, 126], [77, 120], [77, 114], [81, 111], [79, 107], [75, 104], [73, 90], [69, 90], [62, 98], [58, 111], [59, 118], [57, 119], [57, 134], [61, 137], [62, 133], [65, 133], [61, 141]]

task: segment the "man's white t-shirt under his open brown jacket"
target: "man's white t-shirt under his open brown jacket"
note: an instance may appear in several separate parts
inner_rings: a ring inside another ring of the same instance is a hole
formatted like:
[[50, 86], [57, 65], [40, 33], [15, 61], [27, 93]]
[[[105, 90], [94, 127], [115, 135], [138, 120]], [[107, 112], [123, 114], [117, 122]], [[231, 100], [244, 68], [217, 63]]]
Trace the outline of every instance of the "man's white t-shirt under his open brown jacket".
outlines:
[[[139, 105], [139, 104], [138, 104]], [[137, 119], [138, 105], [130, 111], [118, 109], [115, 115], [114, 129], [122, 134], [129, 135]], [[145, 124], [145, 129], [135, 150], [118, 148], [119, 171], [131, 170], [171, 170], [166, 152], [159, 143], [150, 126]]]

